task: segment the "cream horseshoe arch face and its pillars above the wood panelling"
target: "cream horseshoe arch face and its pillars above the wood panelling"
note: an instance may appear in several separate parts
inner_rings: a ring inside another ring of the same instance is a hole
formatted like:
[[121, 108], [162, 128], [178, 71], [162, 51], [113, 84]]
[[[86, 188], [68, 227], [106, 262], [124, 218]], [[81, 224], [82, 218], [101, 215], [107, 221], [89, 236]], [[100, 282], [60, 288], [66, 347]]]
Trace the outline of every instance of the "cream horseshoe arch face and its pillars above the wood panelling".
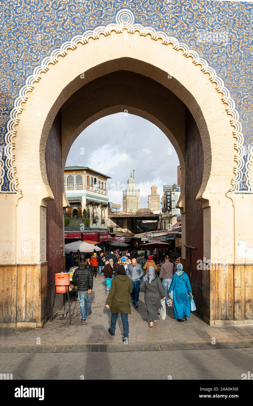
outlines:
[[[161, 84], [189, 108], [197, 123], [204, 152], [202, 185], [196, 197], [205, 209], [204, 256], [211, 261], [227, 258], [230, 264], [240, 263], [235, 248], [238, 229], [234, 212], [236, 204], [241, 201], [240, 197], [229, 192], [233, 187], [236, 188], [238, 176], [233, 180], [236, 155], [234, 143], [240, 138], [240, 123], [234, 117], [233, 101], [222, 89], [219, 78], [204, 65], [205, 61], [192, 54], [185, 44], [174, 43], [175, 39], [163, 38], [161, 33], [155, 33], [154, 30], [146, 29], [143, 33], [139, 27], [122, 32], [123, 28], [107, 28], [105, 32], [101, 31], [104, 35], [100, 37], [98, 30], [95, 34], [88, 33], [64, 45], [53, 53], [44, 67], [37, 69], [36, 76], [28, 85], [30, 92], [26, 92], [25, 96], [21, 93], [21, 103], [17, 108], [19, 122], [15, 127], [17, 181], [13, 182], [19, 194], [8, 198], [8, 204], [11, 203], [15, 212], [14, 227], [11, 232], [8, 231], [15, 242], [9, 263], [41, 266], [46, 262], [45, 239], [42, 237], [45, 235], [47, 201], [54, 199], [54, 194], [47, 179], [45, 150], [57, 112], [84, 84], [124, 69]], [[96, 39], [98, 37], [99, 40]], [[24, 101], [26, 103], [21, 107]], [[68, 142], [69, 139], [66, 145]], [[179, 139], [175, 141], [175, 147], [178, 155], [182, 154]], [[243, 203], [247, 207], [249, 200], [246, 200]], [[183, 213], [183, 195], [180, 196], [179, 206]], [[27, 207], [30, 207], [29, 216]], [[223, 218], [224, 213], [226, 218]], [[29, 222], [31, 216], [32, 221]], [[217, 234], [219, 236], [220, 233], [222, 239], [217, 240]], [[24, 242], [27, 249], [24, 249]], [[3, 260], [6, 261], [6, 258]], [[38, 276], [40, 280], [41, 275]], [[212, 322], [217, 317], [210, 305], [213, 289], [210, 275], [211, 272], [206, 273], [204, 289], [206, 319]], [[229, 287], [226, 289], [227, 294]], [[43, 323], [44, 316], [45, 312], [38, 310], [36, 317], [32, 315], [34, 322], [31, 323]]]

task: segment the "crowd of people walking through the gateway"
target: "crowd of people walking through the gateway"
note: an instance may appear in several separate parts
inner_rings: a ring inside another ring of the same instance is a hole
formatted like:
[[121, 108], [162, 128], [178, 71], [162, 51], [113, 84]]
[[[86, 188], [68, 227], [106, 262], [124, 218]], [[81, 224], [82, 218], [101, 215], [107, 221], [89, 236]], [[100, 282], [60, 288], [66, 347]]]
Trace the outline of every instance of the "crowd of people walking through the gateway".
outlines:
[[[73, 259], [73, 253], [66, 258], [67, 270], [74, 261], [70, 257]], [[121, 313], [124, 344], [128, 344], [131, 300], [132, 306], [137, 309], [139, 292], [144, 292], [150, 328], [157, 322], [161, 300], [165, 300], [167, 306], [173, 306], [174, 317], [179, 322], [187, 321], [190, 317], [188, 295], [192, 292], [188, 275], [183, 271], [181, 263], [176, 265], [173, 274], [174, 264], [169, 261], [168, 255], [159, 264], [160, 272], [157, 270], [156, 256], [148, 256], [147, 251], [141, 254], [119, 250], [101, 252], [99, 255], [96, 252], [87, 253], [85, 257], [81, 257], [78, 265], [72, 281], [78, 290], [81, 322], [91, 314], [89, 295], [93, 288], [93, 279], [99, 271], [99, 278], [105, 278], [105, 287], [109, 292], [106, 307], [111, 310], [111, 325], [108, 331], [111, 335], [115, 334], [118, 313]]]

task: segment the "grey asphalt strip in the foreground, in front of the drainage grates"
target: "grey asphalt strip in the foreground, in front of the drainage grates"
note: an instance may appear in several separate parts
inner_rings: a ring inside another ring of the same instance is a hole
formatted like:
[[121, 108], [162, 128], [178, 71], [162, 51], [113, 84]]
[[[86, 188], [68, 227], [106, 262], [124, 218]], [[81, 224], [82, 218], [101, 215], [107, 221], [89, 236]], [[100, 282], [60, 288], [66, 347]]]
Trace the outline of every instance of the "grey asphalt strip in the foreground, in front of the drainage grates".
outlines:
[[[13, 374], [13, 380], [80, 380], [81, 376], [93, 380], [167, 380], [168, 376], [172, 380], [241, 380], [242, 374], [247, 374], [247, 371], [253, 372], [252, 361], [253, 348], [169, 352], [1, 354], [0, 372]], [[169, 385], [168, 383], [168, 390], [171, 389]], [[175, 391], [177, 388], [174, 385]], [[238, 386], [233, 381], [224, 385]], [[247, 388], [250, 391], [248, 386]], [[77, 391], [79, 389], [77, 386]], [[184, 385], [178, 389], [184, 389]], [[196, 388], [193, 387], [190, 399], [195, 391]]]

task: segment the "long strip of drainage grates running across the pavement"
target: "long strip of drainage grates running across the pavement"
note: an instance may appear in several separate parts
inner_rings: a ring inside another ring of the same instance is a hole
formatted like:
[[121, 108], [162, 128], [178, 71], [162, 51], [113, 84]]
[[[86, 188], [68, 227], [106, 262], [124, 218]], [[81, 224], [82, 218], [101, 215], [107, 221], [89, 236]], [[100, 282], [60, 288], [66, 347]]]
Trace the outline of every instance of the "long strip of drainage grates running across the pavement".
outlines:
[[235, 348], [253, 348], [253, 341], [209, 343], [148, 343], [148, 344], [73, 344], [73, 345], [37, 345], [37, 346], [0, 346], [0, 352], [51, 353], [51, 352], [131, 352], [131, 351], [175, 351], [175, 350], [220, 350]]

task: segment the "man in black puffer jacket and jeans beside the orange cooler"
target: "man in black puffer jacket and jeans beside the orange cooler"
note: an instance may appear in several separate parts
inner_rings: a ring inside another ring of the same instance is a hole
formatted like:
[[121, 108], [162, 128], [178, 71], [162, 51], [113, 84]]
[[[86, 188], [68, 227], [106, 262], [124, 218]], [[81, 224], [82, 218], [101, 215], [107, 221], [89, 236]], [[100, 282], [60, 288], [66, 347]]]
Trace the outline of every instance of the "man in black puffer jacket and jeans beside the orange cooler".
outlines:
[[85, 259], [81, 259], [81, 265], [77, 268], [72, 277], [72, 283], [77, 286], [78, 300], [81, 310], [81, 321], [86, 320], [86, 316], [91, 314], [90, 310], [90, 292], [93, 287], [92, 270], [86, 268]]

